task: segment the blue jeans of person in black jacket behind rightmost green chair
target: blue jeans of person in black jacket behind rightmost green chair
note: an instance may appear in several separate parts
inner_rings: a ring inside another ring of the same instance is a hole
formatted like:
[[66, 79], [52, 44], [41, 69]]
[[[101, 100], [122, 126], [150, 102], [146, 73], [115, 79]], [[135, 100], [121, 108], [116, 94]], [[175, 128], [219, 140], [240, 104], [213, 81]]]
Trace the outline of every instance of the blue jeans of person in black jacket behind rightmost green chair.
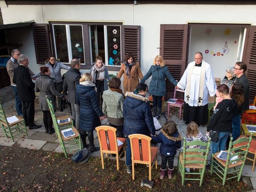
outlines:
[[220, 132], [218, 141], [210, 142], [211, 154], [215, 154], [218, 151], [220, 152], [221, 150], [223, 150], [223, 151], [226, 150], [226, 142], [227, 142], [227, 138], [228, 138], [229, 134], [230, 134], [230, 132]]

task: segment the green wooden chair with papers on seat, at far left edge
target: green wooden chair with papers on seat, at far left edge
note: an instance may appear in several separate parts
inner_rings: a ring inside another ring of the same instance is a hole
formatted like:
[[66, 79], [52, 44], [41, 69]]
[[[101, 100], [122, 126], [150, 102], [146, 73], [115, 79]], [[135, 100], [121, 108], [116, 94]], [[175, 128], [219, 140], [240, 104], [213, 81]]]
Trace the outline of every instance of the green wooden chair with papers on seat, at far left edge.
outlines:
[[7, 121], [4, 108], [2, 104], [0, 104], [0, 121], [1, 121], [1, 127], [3, 128], [3, 131], [5, 133], [5, 136], [7, 138], [11, 138], [12, 142], [14, 142], [14, 137], [18, 135], [25, 134], [26, 137], [28, 137], [27, 127], [25, 124], [25, 120], [22, 117], [19, 117], [17, 115], [13, 116], [17, 119], [17, 121], [9, 123]]

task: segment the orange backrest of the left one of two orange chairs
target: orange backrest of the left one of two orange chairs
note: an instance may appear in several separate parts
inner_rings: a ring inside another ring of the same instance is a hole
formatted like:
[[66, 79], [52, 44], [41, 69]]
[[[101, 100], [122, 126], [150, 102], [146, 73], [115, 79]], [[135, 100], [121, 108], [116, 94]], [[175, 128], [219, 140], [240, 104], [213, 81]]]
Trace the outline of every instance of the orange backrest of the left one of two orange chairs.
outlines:
[[100, 147], [103, 151], [117, 152], [117, 129], [112, 126], [102, 125], [95, 128]]

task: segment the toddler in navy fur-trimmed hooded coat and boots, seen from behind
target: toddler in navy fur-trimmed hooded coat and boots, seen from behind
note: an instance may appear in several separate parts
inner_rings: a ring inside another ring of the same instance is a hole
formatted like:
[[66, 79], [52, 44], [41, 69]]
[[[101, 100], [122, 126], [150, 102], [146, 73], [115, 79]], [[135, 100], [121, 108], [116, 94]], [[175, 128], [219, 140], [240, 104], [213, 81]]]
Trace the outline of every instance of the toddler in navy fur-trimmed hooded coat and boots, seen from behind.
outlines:
[[163, 179], [166, 173], [166, 163], [168, 161], [168, 178], [172, 179], [174, 170], [174, 157], [177, 149], [181, 147], [181, 135], [178, 132], [174, 121], [167, 121], [157, 136], [152, 136], [153, 141], [161, 143], [160, 154], [162, 157], [160, 179]]

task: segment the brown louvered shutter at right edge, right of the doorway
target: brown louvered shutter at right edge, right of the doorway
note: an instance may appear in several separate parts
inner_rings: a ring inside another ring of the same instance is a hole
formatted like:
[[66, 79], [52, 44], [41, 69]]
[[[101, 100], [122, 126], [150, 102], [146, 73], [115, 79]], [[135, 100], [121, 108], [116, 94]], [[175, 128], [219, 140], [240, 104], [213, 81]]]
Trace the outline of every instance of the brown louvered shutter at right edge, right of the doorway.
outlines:
[[245, 63], [246, 76], [250, 82], [250, 99], [253, 100], [256, 95], [256, 26], [250, 27]]

